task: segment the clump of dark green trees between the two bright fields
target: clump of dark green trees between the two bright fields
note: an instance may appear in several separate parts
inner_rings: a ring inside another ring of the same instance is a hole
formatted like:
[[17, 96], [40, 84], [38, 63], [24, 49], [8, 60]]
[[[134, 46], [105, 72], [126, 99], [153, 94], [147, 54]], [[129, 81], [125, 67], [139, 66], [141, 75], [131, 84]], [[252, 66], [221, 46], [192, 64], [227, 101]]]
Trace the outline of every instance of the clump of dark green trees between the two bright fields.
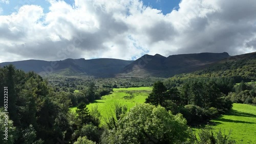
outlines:
[[[232, 108], [231, 101], [221, 92], [221, 85], [212, 80], [183, 82], [181, 87], [169, 87], [163, 82], [154, 84], [146, 103], [161, 105], [174, 114], [182, 113], [188, 125], [209, 121]], [[180, 90], [179, 90], [180, 89]]]

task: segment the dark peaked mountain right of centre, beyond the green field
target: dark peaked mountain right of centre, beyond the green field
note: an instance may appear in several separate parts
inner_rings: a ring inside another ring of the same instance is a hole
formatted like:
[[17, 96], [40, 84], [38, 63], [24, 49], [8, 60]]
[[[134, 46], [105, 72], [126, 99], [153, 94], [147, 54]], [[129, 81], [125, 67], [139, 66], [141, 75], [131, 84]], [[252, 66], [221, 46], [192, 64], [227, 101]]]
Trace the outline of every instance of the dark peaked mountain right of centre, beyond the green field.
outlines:
[[156, 54], [144, 55], [124, 67], [119, 77], [171, 77], [202, 69], [205, 65], [230, 57], [228, 53], [200, 53], [172, 55], [167, 58]]

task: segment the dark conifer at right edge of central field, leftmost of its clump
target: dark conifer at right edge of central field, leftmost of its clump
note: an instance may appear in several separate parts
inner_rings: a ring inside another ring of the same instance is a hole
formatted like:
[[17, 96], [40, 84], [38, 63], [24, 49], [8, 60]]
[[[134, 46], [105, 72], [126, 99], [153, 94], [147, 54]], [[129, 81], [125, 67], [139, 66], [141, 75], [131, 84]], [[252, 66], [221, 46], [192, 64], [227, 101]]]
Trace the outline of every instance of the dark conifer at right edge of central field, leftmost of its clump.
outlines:
[[146, 102], [145, 103], [150, 103], [152, 105], [162, 105], [163, 102], [166, 100], [166, 87], [163, 85], [163, 82], [156, 82], [153, 85], [153, 90], [150, 93], [150, 95], [148, 95], [148, 97], [146, 98]]

